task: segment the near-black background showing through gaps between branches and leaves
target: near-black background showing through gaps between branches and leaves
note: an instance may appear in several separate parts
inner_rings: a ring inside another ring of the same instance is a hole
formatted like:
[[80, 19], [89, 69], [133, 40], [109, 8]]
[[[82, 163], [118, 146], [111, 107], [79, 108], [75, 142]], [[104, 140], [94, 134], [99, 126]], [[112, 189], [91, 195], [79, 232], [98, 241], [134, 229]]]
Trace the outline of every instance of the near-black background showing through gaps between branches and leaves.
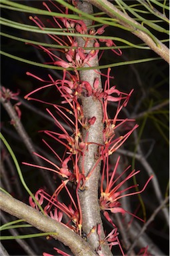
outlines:
[[[19, 1], [19, 3], [43, 9], [42, 1]], [[132, 3], [135, 3], [135, 1], [131, 1], [131, 4]], [[95, 11], [98, 10], [95, 9]], [[5, 9], [1, 10], [1, 16], [5, 17], [6, 19], [34, 25], [31, 21], [29, 21], [29, 15], [30, 14], [28, 13], [17, 13], [15, 11], [9, 11]], [[153, 19], [153, 17], [148, 17], [148, 19]], [[45, 17], [43, 17], [43, 21], [45, 22]], [[163, 24], [163, 26], [167, 28], [167, 25]], [[19, 31], [17, 29], [5, 27], [3, 25], [1, 26], [1, 31], [15, 35], [17, 37], [33, 39], [35, 41], [43, 41], [45, 39], [41, 34], [35, 35], [32, 33], [30, 35], [30, 33], [27, 31]], [[161, 33], [154, 31], [154, 34], [159, 39], [166, 38], [166, 35]], [[109, 27], [105, 29], [105, 35], [123, 37], [124, 39], [135, 44], [142, 43], [131, 33], [116, 27]], [[117, 45], [121, 45], [121, 43], [117, 42]], [[45, 55], [42, 51], [35, 49], [35, 47], [32, 45], [25, 45], [22, 42], [7, 39], [6, 37], [1, 37], [1, 49], [7, 53], [11, 53], [12, 55], [16, 55], [39, 63], [48, 61], [47, 55]], [[105, 51], [103, 57], [101, 58], [100, 64], [105, 65], [108, 63], [116, 63], [120, 61], [157, 57], [156, 53], [150, 50], [131, 48], [123, 49], [122, 51], [123, 55], [121, 57], [111, 53], [111, 51]], [[32, 77], [28, 77], [26, 75], [27, 71], [43, 79], [47, 79], [48, 73], [53, 75], [53, 77], [56, 79], [62, 75], [60, 71], [45, 70], [41, 67], [28, 65], [27, 63], [15, 61], [14, 59], [10, 59], [9, 57], [1, 55], [1, 85], [11, 89], [13, 92], [19, 90], [19, 99], [23, 99], [27, 93], [42, 85], [40, 81], [37, 81]], [[111, 75], [114, 76], [114, 80], [111, 82], [111, 85], [117, 85], [117, 89], [120, 91], [129, 93], [131, 89], [134, 89], [133, 95], [131, 96], [129, 104], [127, 105], [127, 111], [130, 116], [135, 115], [138, 117], [139, 113], [147, 111], [151, 102], [152, 106], [155, 106], [163, 103], [165, 99], [169, 98], [169, 65], [162, 59], [157, 61], [149, 61], [148, 63], [114, 67], [111, 71]], [[104, 78], [103, 81], [105, 81]], [[60, 101], [59, 95], [54, 95], [50, 89], [42, 92], [41, 99], [48, 99], [55, 103]], [[23, 99], [23, 101], [25, 100]], [[139, 108], [134, 113], [135, 107], [139, 101], [141, 101]], [[15, 101], [12, 100], [11, 103], [14, 104]], [[45, 117], [37, 114], [36, 111], [31, 111], [27, 107], [28, 104], [33, 105], [33, 107], [36, 107], [39, 110], [41, 109], [43, 113], [46, 113], [45, 107], [47, 106], [34, 101], [30, 103], [25, 101], [25, 104], [22, 103], [20, 106], [22, 112], [21, 122], [23, 123], [29, 137], [31, 137], [33, 143], [37, 146], [37, 151], [39, 151], [39, 149], [44, 147], [41, 141], [44, 135], [42, 133], [38, 133], [38, 131], [43, 129], [54, 130], [55, 127], [52, 121], [49, 121]], [[114, 106], [111, 106], [109, 109], [110, 115], [113, 111], [113, 107]], [[160, 111], [155, 111], [147, 118], [147, 122], [141, 136], [140, 145], [143, 153], [147, 155], [147, 161], [149, 165], [151, 165], [155, 171], [155, 174], [157, 175], [162, 194], [165, 196], [167, 191], [167, 182], [169, 179], [169, 116], [167, 115], [169, 106], [166, 105], [159, 110]], [[125, 117], [125, 113], [122, 113], [121, 115], [122, 117]], [[142, 125], [143, 119], [144, 116], [136, 119], [139, 127]], [[9, 123], [9, 121], [10, 119], [5, 109], [1, 107], [1, 131], [15, 152], [27, 185], [29, 185], [31, 191], [35, 193], [39, 187], [43, 187], [43, 179], [39, 175], [39, 171], [37, 169], [26, 167], [25, 165], [21, 164], [22, 161], [30, 162], [32, 159], [27, 152], [27, 149], [25, 149], [23, 141], [21, 141], [19, 135], [17, 135], [15, 131], [15, 128]], [[54, 144], [54, 146], [57, 147], [57, 149], [60, 149], [59, 145]], [[130, 137], [127, 140], [125, 143], [125, 149], [130, 151], [135, 149], [135, 142], [133, 141], [133, 137]], [[44, 151], [46, 152], [48, 149], [45, 148]], [[130, 165], [131, 158], [127, 157], [127, 159]], [[143, 184], [143, 182], [147, 180], [147, 175], [145, 170], [143, 170], [143, 166], [141, 166], [137, 160], [135, 161], [135, 169], [141, 169], [142, 174], [139, 175], [139, 179], [141, 179], [141, 183]], [[49, 175], [53, 177], [51, 173]], [[13, 178], [14, 177], [9, 177], [11, 183], [13, 183]], [[140, 180], [138, 180], [138, 182], [140, 184]], [[22, 195], [17, 195], [14, 188], [13, 196], [21, 199], [21, 201], [25, 201], [25, 203], [28, 203], [28, 195], [24, 189]], [[158, 202], [153, 193], [153, 189], [151, 189], [151, 185], [149, 185], [147, 191], [143, 193], [143, 201], [147, 209], [147, 217], [149, 217], [151, 213], [153, 213], [154, 209], [156, 209], [158, 206]], [[138, 203], [139, 201], [137, 198], [132, 199], [132, 204], [135, 204], [136, 206]], [[12, 217], [9, 217], [9, 215], [7, 215], [7, 217], [9, 219], [13, 219]], [[33, 233], [33, 231], [36, 232], [35, 229], [31, 229], [31, 231], [30, 229], [27, 229], [27, 233]], [[22, 233], [23, 230], [20, 232]], [[161, 213], [157, 215], [155, 220], [151, 223], [151, 225], [149, 225], [147, 233], [157, 244], [157, 246], [160, 247], [160, 249], [165, 253], [165, 255], [169, 255], [169, 229], [167, 228]], [[7, 233], [4, 232], [3, 235], [7, 235]], [[29, 243], [29, 245], [35, 249], [37, 255], [41, 255], [43, 251], [54, 254], [53, 247], [57, 247], [56, 241], [53, 243], [52, 239], [47, 241], [43, 237], [37, 239], [27, 239], [27, 243]], [[3, 245], [10, 255], [25, 255], [25, 252], [23, 252], [21, 247], [14, 241], [3, 241]], [[58, 246], [61, 246], [62, 249], [62, 245]]]

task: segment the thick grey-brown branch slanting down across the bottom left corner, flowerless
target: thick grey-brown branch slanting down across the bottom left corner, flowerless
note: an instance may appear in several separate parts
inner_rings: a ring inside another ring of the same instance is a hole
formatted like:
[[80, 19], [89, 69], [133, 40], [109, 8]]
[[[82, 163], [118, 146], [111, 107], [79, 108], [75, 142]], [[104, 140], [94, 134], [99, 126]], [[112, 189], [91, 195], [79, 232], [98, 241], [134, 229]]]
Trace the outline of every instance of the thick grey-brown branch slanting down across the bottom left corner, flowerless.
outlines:
[[69, 246], [76, 256], [97, 255], [89, 244], [71, 229], [1, 191], [0, 209], [19, 219], [23, 219], [43, 232], [56, 233], [56, 235], [51, 236]]

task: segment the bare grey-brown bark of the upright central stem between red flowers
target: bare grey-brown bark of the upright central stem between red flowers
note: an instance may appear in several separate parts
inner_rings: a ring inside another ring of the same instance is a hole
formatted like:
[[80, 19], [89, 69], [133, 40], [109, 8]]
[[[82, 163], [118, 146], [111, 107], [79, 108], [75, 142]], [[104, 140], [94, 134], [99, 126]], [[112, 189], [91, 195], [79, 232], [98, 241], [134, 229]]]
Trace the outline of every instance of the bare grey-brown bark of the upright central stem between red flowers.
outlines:
[[[93, 13], [93, 7], [91, 4], [86, 2], [79, 1], [77, 3], [77, 7], [81, 11], [85, 11], [85, 13]], [[91, 21], [84, 21], [86, 25], [91, 25]], [[83, 47], [85, 45], [84, 39], [81, 37], [77, 37], [77, 42], [79, 47]], [[93, 47], [94, 41], [91, 40], [88, 43], [88, 47]], [[88, 52], [88, 51], [87, 51]], [[95, 57], [91, 61], [89, 61], [91, 67], [98, 66], [98, 57]], [[84, 67], [88, 67], [85, 65]], [[99, 71], [99, 70], [98, 70]], [[81, 81], [87, 81], [90, 83], [91, 87], [93, 87], [93, 83], [96, 78], [99, 79], [99, 88], [101, 88], [101, 77], [99, 73], [96, 73], [95, 70], [91, 69], [88, 71], [79, 71], [79, 76]], [[98, 100], [94, 100], [93, 97], [81, 97], [81, 105], [83, 107], [84, 117], [90, 119], [91, 117], [96, 117], [96, 121], [91, 127], [87, 130], [82, 130], [83, 141], [87, 141], [91, 144], [87, 146], [87, 150], [85, 151], [85, 156], [81, 157], [79, 161], [79, 170], [82, 171], [84, 165], [85, 175], [91, 171], [93, 166], [96, 164], [97, 159], [95, 155], [97, 154], [98, 145], [93, 143], [103, 143], [103, 110], [102, 105]], [[99, 187], [99, 175], [101, 170], [101, 163], [99, 162], [93, 174], [86, 181], [85, 186], [86, 189], [84, 191], [79, 192], [79, 199], [81, 203], [81, 211], [83, 215], [83, 231], [89, 234], [93, 227], [97, 227], [98, 224], [101, 225], [101, 239], [105, 238], [105, 234], [103, 231], [103, 225], [101, 221], [100, 207], [98, 201], [98, 187]], [[88, 236], [87, 241], [91, 244], [93, 249], [97, 249], [99, 247], [99, 235], [95, 232], [91, 233]], [[103, 255], [112, 255], [109, 250], [108, 245], [101, 245], [101, 251]]]

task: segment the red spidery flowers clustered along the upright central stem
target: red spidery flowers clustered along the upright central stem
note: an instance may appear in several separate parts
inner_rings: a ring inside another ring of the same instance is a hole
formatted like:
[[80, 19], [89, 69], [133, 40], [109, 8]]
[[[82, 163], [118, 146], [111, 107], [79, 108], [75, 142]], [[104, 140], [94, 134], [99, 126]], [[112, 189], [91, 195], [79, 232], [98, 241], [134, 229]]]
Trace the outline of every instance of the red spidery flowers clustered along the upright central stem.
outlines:
[[[56, 8], [57, 5], [50, 1]], [[47, 3], [43, 3], [48, 11], [51, 11]], [[59, 8], [58, 8], [59, 9]], [[61, 11], [61, 10], [60, 10]], [[68, 14], [68, 9], [65, 11], [66, 14]], [[31, 20], [33, 20], [40, 29], [44, 29], [45, 25], [37, 18], [37, 17], [30, 17]], [[45, 204], [44, 211], [47, 215], [49, 215], [51, 218], [56, 219], [57, 221], [63, 221], [63, 215], [65, 215], [67, 222], [64, 223], [64, 225], [67, 225], [70, 229], [81, 235], [81, 223], [82, 223], [82, 216], [81, 216], [81, 207], [79, 203], [79, 195], [78, 191], [85, 189], [85, 183], [95, 170], [95, 167], [93, 166], [89, 174], [85, 177], [84, 171], [79, 171], [78, 162], [80, 157], [85, 157], [85, 152], [88, 151], [88, 146], [92, 142], [87, 142], [87, 138], [83, 141], [82, 135], [81, 135], [81, 128], [83, 127], [88, 131], [89, 127], [91, 125], [95, 124], [96, 117], [93, 116], [90, 119], [85, 119], [83, 115], [83, 108], [81, 106], [81, 97], [91, 97], [94, 101], [100, 101], [101, 105], [103, 107], [103, 143], [99, 146], [98, 155], [96, 157], [96, 165], [99, 163], [99, 161], [103, 161], [103, 171], [101, 175], [101, 195], [99, 198], [99, 203], [101, 210], [104, 211], [104, 216], [111, 223], [113, 226], [113, 230], [105, 237], [104, 240], [101, 239], [101, 227], [98, 225], [95, 227], [97, 229], [97, 234], [99, 235], [99, 248], [98, 253], [100, 251], [100, 246], [105, 243], [109, 245], [109, 247], [113, 247], [113, 245], [119, 245], [121, 248], [121, 245], [119, 243], [118, 239], [118, 232], [117, 227], [113, 224], [111, 221], [111, 218], [109, 217], [109, 213], [107, 211], [110, 211], [111, 213], [126, 213], [125, 209], [121, 207], [121, 203], [119, 203], [119, 199], [121, 197], [125, 197], [127, 195], [135, 195], [137, 193], [141, 193], [147, 184], [149, 183], [150, 177], [143, 187], [143, 189], [139, 192], [133, 192], [133, 193], [127, 193], [124, 195], [123, 193], [129, 189], [132, 189], [135, 187], [135, 185], [128, 187], [127, 189], [121, 190], [121, 186], [131, 177], [139, 173], [139, 171], [131, 171], [129, 175], [123, 180], [121, 180], [122, 175], [124, 175], [127, 172], [127, 169], [121, 173], [118, 177], [115, 176], [117, 166], [119, 165], [119, 159], [117, 159], [117, 163], [115, 165], [115, 168], [113, 171], [109, 170], [109, 155], [111, 155], [114, 151], [116, 151], [121, 145], [125, 142], [125, 140], [131, 135], [131, 133], [134, 131], [134, 129], [137, 128], [137, 125], [134, 125], [133, 127], [130, 127], [128, 131], [125, 131], [123, 135], [117, 135], [117, 128], [121, 125], [124, 125], [128, 121], [133, 121], [129, 119], [119, 119], [119, 113], [123, 109], [123, 107], [126, 107], [129, 97], [131, 96], [130, 91], [129, 93], [123, 93], [116, 89], [115, 86], [110, 86], [110, 69], [107, 71], [107, 79], [105, 81], [105, 85], [103, 89], [99, 89], [99, 79], [95, 79], [93, 85], [90, 85], [87, 81], [81, 81], [79, 78], [79, 72], [77, 71], [78, 67], [83, 67], [85, 64], [89, 65], [89, 61], [91, 59], [95, 58], [96, 55], [99, 53], [99, 49], [91, 49], [91, 51], [85, 51], [83, 47], [78, 47], [77, 41], [75, 41], [75, 36], [73, 36], [73, 33], [80, 33], [85, 41], [84, 47], [87, 46], [87, 43], [91, 40], [88, 35], [101, 35], [104, 32], [104, 29], [106, 25], [103, 27], [100, 27], [97, 29], [97, 31], [94, 31], [94, 29], [87, 29], [85, 23], [83, 21], [77, 21], [74, 19], [68, 18], [61, 18], [61, 17], [53, 17], [53, 20], [55, 21], [55, 24], [53, 26], [62, 28], [62, 26], [67, 29], [67, 32], [69, 32], [69, 35], [67, 34], [66, 38], [63, 39], [61, 37], [58, 37], [57, 35], [50, 35], [51, 39], [53, 39], [55, 42], [57, 42], [62, 47], [65, 46], [65, 49], [61, 48], [60, 51], [63, 54], [63, 58], [59, 57], [53, 49], [47, 49], [43, 47], [42, 45], [39, 45], [39, 49], [42, 49], [47, 53], [47, 55], [50, 57], [51, 62], [50, 64], [53, 65], [59, 65], [60, 67], [63, 67], [63, 79], [53, 79], [51, 75], [48, 75], [49, 80], [45, 81], [31, 73], [27, 72], [27, 75], [31, 75], [35, 79], [39, 79], [39, 81], [42, 81], [45, 83], [42, 87], [33, 90], [31, 93], [27, 94], [25, 96], [25, 99], [31, 99], [35, 101], [39, 101], [42, 103], [49, 104], [53, 106], [55, 109], [55, 112], [59, 114], [63, 121], [67, 124], [67, 127], [72, 131], [71, 133], [68, 132], [61, 123], [57, 120], [55, 115], [47, 109], [47, 112], [51, 117], [53, 117], [54, 123], [57, 127], [57, 131], [43, 131], [45, 134], [49, 135], [54, 141], [59, 142], [61, 145], [65, 147], [65, 152], [63, 157], [60, 157], [56, 151], [45, 141], [45, 145], [49, 147], [51, 152], [55, 155], [57, 158], [58, 164], [53, 163], [46, 157], [43, 157], [37, 153], [35, 155], [41, 157], [44, 161], [46, 161], [48, 164], [50, 164], [52, 167], [41, 166], [41, 169], [45, 169], [47, 171], [53, 171], [54, 173], [57, 173], [61, 177], [61, 185], [57, 187], [56, 191], [53, 193], [52, 196], [47, 194], [43, 189], [39, 189], [37, 193], [35, 193], [35, 198], [39, 202], [40, 205]], [[99, 47], [99, 41], [104, 42], [107, 46], [114, 45], [113, 41], [107, 40], [107, 39], [93, 39], [94, 40], [94, 47]], [[68, 48], [69, 47], [69, 48]], [[121, 55], [121, 51], [115, 52], [118, 55]], [[69, 72], [66, 69], [68, 67], [73, 68], [73, 72]], [[47, 87], [53, 87], [54, 90], [57, 89], [59, 93], [61, 94], [61, 97], [63, 98], [63, 101], [61, 103], [65, 104], [59, 106], [57, 104], [46, 102], [41, 99], [33, 98], [31, 95], [35, 93], [41, 92], [41, 90], [46, 89]], [[113, 119], [109, 119], [108, 113], [107, 113], [107, 107], [109, 102], [117, 102], [117, 110], [115, 112], [115, 116]], [[59, 131], [58, 131], [59, 130]], [[87, 132], [88, 136], [88, 132]], [[82, 161], [82, 165], [84, 165]], [[25, 163], [27, 165], [30, 165], [32, 167], [39, 167], [37, 165], [33, 165], [30, 163]], [[82, 169], [84, 170], [83, 166]], [[117, 184], [118, 181], [118, 185]], [[72, 183], [72, 185], [75, 187], [75, 195], [71, 194], [69, 191], [67, 184]], [[65, 192], [67, 192], [67, 195], [70, 198], [69, 205], [65, 205], [65, 203], [61, 203], [59, 201], [59, 193], [65, 189]], [[45, 203], [46, 202], [46, 203]], [[33, 202], [32, 198], [30, 197], [29, 203], [32, 207], [35, 207], [38, 209], [37, 205]], [[91, 231], [92, 232], [92, 231]], [[88, 236], [88, 234], [87, 234]], [[61, 253], [62, 255], [67, 255], [67, 253], [61, 252], [59, 249], [54, 248], [58, 253]], [[123, 250], [121, 249], [122, 254]], [[49, 256], [48, 253], [43, 253], [44, 256]], [[101, 255], [99, 253], [99, 255]], [[123, 254], [124, 255], [124, 254]]]

